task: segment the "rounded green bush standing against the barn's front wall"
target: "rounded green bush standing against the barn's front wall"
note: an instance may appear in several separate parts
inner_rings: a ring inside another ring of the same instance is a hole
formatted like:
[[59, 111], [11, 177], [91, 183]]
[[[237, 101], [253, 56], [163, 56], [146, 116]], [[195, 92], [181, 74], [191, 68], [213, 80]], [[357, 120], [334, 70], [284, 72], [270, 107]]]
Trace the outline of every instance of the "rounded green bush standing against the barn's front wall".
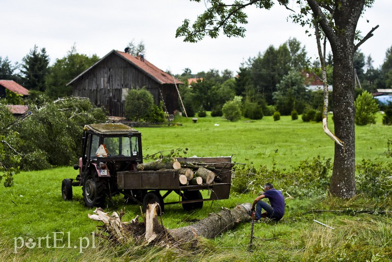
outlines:
[[142, 89], [130, 89], [125, 98], [125, 117], [131, 121], [147, 120], [154, 105], [151, 93]]

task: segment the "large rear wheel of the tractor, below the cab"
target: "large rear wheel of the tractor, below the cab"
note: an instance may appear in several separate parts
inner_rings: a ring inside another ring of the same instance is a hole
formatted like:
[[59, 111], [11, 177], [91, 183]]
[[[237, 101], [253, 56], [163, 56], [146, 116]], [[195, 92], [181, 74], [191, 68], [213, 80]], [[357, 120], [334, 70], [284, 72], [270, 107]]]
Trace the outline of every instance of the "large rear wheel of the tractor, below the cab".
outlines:
[[105, 204], [105, 184], [97, 172], [86, 172], [83, 179], [83, 200], [87, 207], [102, 207]]

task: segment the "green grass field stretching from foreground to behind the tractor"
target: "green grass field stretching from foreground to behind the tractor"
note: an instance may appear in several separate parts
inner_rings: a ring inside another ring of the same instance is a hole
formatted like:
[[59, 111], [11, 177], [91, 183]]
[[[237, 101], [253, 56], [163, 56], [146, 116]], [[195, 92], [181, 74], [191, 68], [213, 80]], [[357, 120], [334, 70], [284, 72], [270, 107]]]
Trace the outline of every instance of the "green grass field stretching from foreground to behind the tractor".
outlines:
[[[268, 166], [276, 162], [282, 168], [296, 166], [299, 160], [317, 155], [333, 158], [333, 142], [323, 134], [321, 124], [292, 121], [289, 117], [277, 122], [272, 117], [234, 123], [212, 117], [199, 118], [196, 124], [185, 118], [175, 121], [182, 126], [138, 128], [143, 133], [145, 155], [188, 148], [187, 156], [234, 155], [237, 162]], [[375, 157], [392, 160], [384, 154], [387, 140], [392, 138], [392, 127], [382, 126], [380, 121], [357, 127], [356, 138], [357, 160]], [[281, 222], [255, 225], [255, 236], [264, 240], [255, 240], [252, 253], [248, 252], [250, 224], [239, 225], [215, 239], [204, 239], [196, 251], [133, 243], [114, 245], [91, 234], [99, 223], [87, 217], [93, 209], [83, 205], [80, 187], [73, 188], [73, 201], [62, 200], [61, 181], [75, 176], [72, 167], [22, 172], [15, 176], [13, 187], [0, 187], [0, 261], [389, 261], [392, 258], [389, 215], [353, 211], [391, 210], [391, 207], [362, 195], [352, 200], [325, 196], [287, 199], [286, 215]], [[170, 197], [175, 200], [175, 196]], [[254, 197], [232, 193], [230, 199], [205, 202], [203, 209], [195, 212], [186, 212], [180, 205], [166, 206], [164, 225], [167, 228], [190, 225], [221, 207], [233, 208], [251, 202]], [[140, 214], [138, 206], [125, 205], [121, 197], [115, 197], [114, 205], [109, 204], [105, 211], [121, 209], [125, 211], [123, 221]], [[29, 243], [36, 246], [29, 248]]]

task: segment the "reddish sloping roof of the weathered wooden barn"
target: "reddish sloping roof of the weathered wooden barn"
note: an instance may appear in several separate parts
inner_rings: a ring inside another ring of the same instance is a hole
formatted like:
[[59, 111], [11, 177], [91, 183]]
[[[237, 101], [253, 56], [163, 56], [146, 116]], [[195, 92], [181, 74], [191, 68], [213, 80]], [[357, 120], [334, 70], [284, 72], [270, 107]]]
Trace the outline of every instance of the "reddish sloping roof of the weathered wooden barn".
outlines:
[[86, 72], [90, 71], [92, 68], [96, 67], [100, 63], [100, 61], [102, 61], [103, 59], [105, 59], [107, 56], [109, 56], [112, 53], [118, 55], [119, 57], [121, 57], [126, 62], [133, 65], [134, 67], [139, 68], [141, 71], [146, 73], [150, 78], [154, 79], [155, 81], [157, 81], [160, 84], [174, 84], [174, 81], [176, 84], [182, 84], [181, 81], [179, 81], [178, 79], [174, 79], [171, 75], [169, 75], [168, 73], [157, 68], [156, 66], [154, 66], [153, 64], [148, 62], [146, 59], [145, 59], [145, 62], [142, 62], [138, 57], [135, 57], [129, 53], [112, 50], [111, 52], [106, 54], [104, 57], [102, 57], [97, 63], [92, 65], [90, 68], [88, 68], [86, 71], [81, 73], [76, 78], [72, 79], [71, 82], [69, 82], [67, 85], [72, 84], [76, 79], [78, 79], [79, 77], [84, 75]]

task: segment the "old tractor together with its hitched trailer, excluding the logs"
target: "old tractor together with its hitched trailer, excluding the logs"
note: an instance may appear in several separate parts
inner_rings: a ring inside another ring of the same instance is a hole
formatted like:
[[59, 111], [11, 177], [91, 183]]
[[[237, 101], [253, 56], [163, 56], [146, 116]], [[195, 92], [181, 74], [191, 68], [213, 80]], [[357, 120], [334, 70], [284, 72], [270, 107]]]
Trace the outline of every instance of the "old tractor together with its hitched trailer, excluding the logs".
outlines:
[[[83, 199], [88, 207], [104, 206], [106, 199], [123, 194], [128, 202], [143, 205], [158, 203], [182, 204], [184, 210], [203, 207], [204, 201], [228, 199], [231, 187], [231, 157], [183, 157], [181, 166], [203, 167], [214, 172], [214, 180], [197, 185], [179, 183], [179, 169], [141, 171], [143, 163], [141, 133], [123, 124], [91, 124], [83, 131], [82, 157], [74, 169], [75, 179], [62, 181], [64, 200], [72, 200], [73, 186], [82, 186]], [[208, 191], [208, 198], [201, 194]], [[178, 201], [165, 202], [170, 194]]]

